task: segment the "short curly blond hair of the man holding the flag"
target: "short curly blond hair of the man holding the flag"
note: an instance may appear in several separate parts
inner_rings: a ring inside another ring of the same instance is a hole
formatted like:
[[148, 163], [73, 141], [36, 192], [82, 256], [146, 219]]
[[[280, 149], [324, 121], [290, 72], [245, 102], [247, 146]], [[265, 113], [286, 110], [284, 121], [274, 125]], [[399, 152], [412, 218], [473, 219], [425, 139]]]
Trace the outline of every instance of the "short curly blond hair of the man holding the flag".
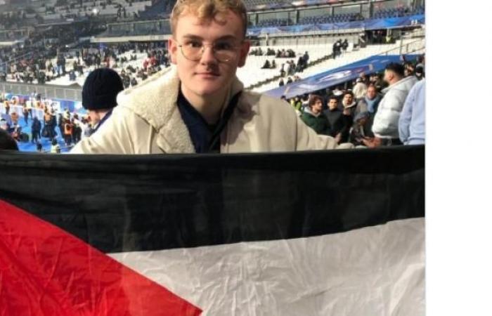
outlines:
[[171, 11], [171, 31], [176, 34], [176, 25], [179, 16], [183, 13], [193, 13], [200, 20], [215, 20], [219, 23], [226, 23], [226, 20], [219, 20], [217, 15], [223, 15], [228, 10], [239, 15], [246, 36], [247, 12], [242, 0], [177, 0]]

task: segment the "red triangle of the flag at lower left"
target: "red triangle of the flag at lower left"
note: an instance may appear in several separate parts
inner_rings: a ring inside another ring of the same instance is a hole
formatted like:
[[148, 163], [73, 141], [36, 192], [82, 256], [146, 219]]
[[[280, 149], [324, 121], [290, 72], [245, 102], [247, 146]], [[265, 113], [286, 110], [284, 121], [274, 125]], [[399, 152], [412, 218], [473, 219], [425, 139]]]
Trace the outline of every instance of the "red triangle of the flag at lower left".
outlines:
[[201, 312], [77, 237], [0, 200], [0, 316]]

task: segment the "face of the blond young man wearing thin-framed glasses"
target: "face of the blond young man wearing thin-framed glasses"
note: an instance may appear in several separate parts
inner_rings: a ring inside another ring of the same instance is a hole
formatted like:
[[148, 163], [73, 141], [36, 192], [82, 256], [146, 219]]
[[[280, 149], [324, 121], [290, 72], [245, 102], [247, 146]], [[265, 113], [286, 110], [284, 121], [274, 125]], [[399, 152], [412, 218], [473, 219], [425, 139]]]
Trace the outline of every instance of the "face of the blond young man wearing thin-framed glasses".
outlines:
[[[174, 39], [169, 39], [171, 61], [176, 64], [183, 89], [196, 96], [216, 96], [228, 89], [238, 67], [245, 65], [250, 43], [242, 41], [242, 21], [232, 11], [220, 16], [226, 23], [215, 20], [200, 20], [193, 13], [183, 13], [176, 23]], [[235, 57], [219, 61], [212, 50], [212, 43], [235, 43]], [[205, 44], [200, 60], [184, 57], [179, 45], [199, 46]]]

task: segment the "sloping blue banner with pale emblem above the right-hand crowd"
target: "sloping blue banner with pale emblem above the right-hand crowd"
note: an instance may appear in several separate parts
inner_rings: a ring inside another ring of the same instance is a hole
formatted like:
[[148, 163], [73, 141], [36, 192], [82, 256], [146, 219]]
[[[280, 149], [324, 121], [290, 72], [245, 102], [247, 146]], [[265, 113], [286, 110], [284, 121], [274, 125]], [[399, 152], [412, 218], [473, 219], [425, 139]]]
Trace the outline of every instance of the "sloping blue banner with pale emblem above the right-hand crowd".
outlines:
[[[406, 55], [406, 60], [415, 60], [417, 55]], [[361, 74], [371, 74], [384, 70], [390, 62], [401, 62], [400, 55], [373, 56], [358, 62], [328, 70], [301, 81], [266, 91], [268, 96], [292, 98], [354, 80]]]

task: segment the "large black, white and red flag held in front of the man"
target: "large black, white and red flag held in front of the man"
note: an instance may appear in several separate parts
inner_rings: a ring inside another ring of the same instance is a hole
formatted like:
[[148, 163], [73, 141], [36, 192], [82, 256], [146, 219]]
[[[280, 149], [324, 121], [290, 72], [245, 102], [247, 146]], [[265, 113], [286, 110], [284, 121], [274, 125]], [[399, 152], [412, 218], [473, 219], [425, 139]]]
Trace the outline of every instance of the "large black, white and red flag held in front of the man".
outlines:
[[424, 147], [0, 154], [0, 315], [425, 315]]

